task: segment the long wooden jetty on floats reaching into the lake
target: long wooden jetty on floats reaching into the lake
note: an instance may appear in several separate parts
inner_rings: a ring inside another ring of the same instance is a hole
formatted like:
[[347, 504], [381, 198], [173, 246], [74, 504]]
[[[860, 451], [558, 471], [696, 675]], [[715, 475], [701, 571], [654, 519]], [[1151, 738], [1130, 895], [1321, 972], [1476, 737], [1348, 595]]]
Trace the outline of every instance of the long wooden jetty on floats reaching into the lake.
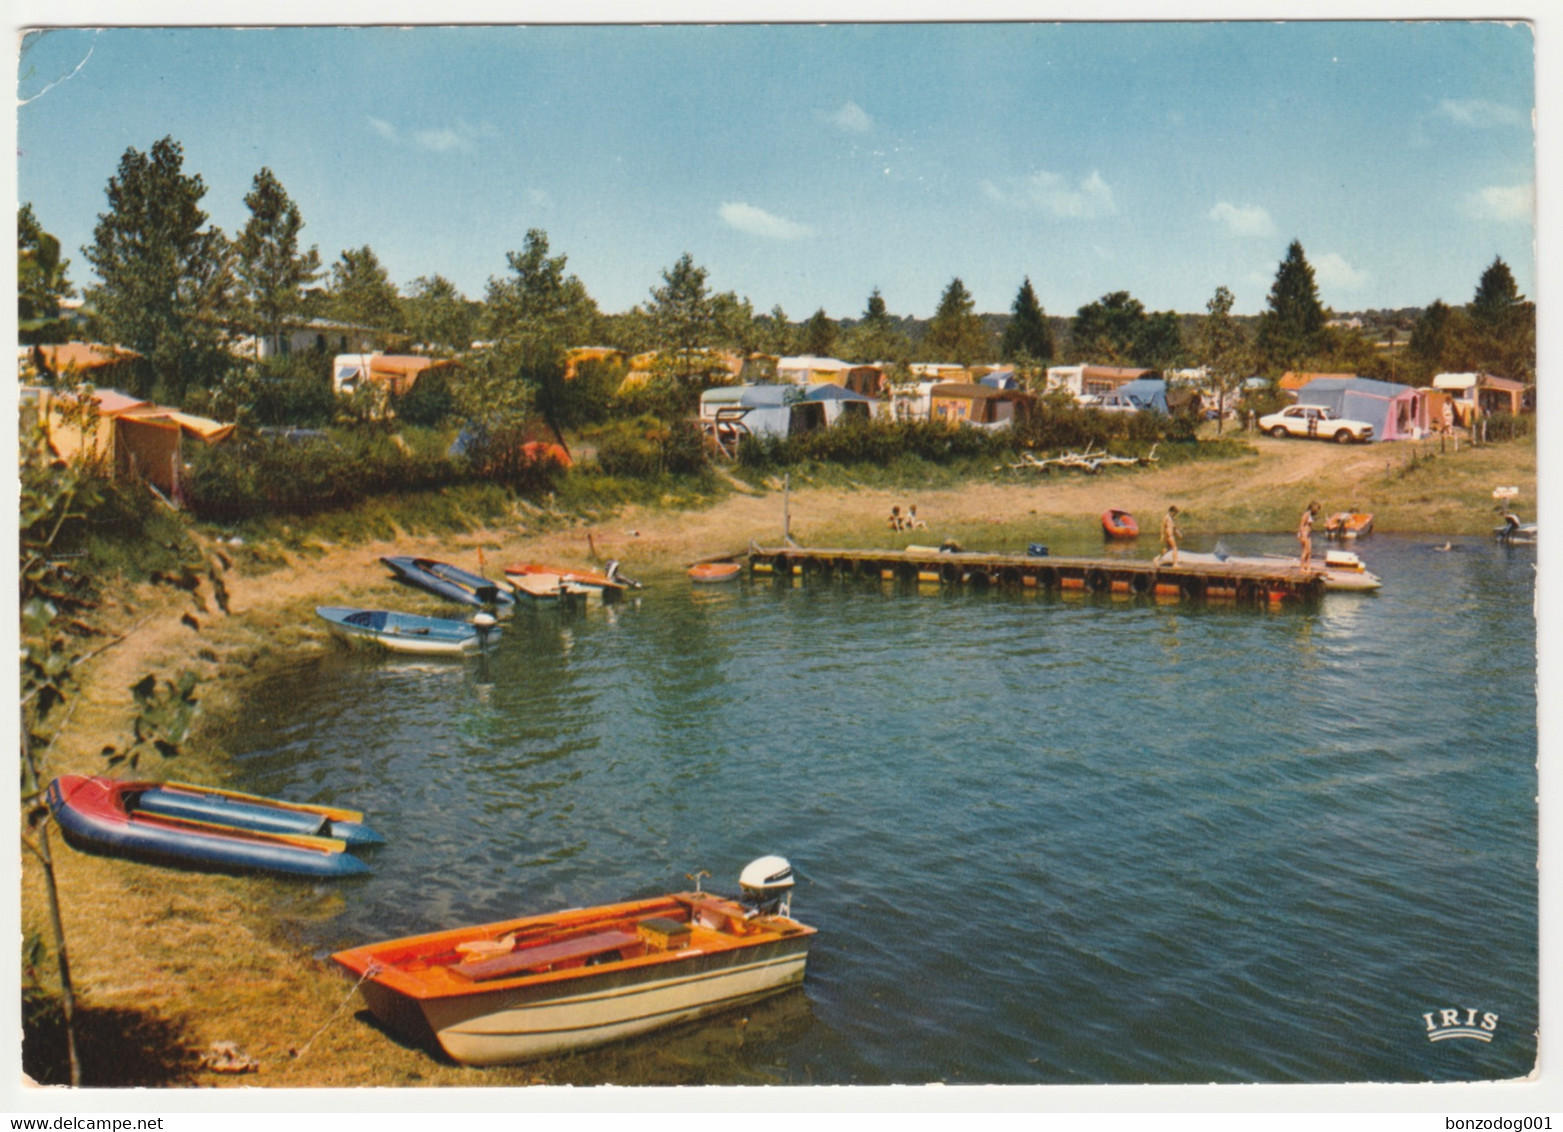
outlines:
[[842, 550], [750, 546], [749, 569], [756, 575], [802, 575], [822, 582], [863, 579], [972, 589], [1010, 588], [1168, 600], [1225, 600], [1244, 605], [1311, 602], [1324, 596], [1322, 569], [1283, 563], [1158, 566], [1143, 558], [1032, 557], [938, 547]]

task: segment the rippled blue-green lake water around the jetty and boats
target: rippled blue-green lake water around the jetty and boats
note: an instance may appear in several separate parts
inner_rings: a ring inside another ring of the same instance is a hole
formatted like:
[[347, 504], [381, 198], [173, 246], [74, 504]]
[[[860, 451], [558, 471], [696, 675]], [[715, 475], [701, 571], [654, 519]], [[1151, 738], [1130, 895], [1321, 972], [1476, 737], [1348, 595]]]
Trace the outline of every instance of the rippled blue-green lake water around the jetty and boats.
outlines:
[[[1363, 539], [1380, 594], [1282, 611], [667, 579], [520, 610], [480, 660], [334, 649], [222, 741], [242, 788], [389, 838], [366, 880], [277, 883], [322, 954], [791, 858], [803, 988], [581, 1080], [1516, 1077], [1535, 550], [1435, 543]], [[1491, 1041], [1430, 1041], [1446, 1007]]]

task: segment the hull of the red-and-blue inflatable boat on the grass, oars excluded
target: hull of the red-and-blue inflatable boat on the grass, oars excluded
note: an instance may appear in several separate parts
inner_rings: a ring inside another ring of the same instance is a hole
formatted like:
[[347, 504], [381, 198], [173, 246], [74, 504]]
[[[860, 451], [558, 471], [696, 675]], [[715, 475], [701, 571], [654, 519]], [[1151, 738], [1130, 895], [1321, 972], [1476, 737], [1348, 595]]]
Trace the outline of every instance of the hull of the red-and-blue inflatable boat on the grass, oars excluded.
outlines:
[[[141, 808], [141, 796], [148, 793], [180, 796], [177, 801], [195, 804], [202, 790], [64, 774], [48, 783], [47, 801], [67, 844], [81, 852], [216, 872], [350, 877], [369, 871], [367, 865], [345, 852], [344, 840], [330, 836], [330, 819], [320, 822], [320, 833], [261, 830], [253, 824], [224, 826], [225, 816], [245, 819], [241, 807], [230, 805], [224, 815], [225, 807], [217, 799], [209, 799], [211, 807], [203, 818], [189, 816], [192, 811], [181, 811], [180, 807], [163, 807], [161, 811]], [[255, 808], [261, 807], [242, 807]], [[288, 804], [277, 808], [306, 810]], [[320, 810], [317, 816], [324, 818], [325, 813]], [[374, 840], [381, 840], [372, 830], [369, 833]]]

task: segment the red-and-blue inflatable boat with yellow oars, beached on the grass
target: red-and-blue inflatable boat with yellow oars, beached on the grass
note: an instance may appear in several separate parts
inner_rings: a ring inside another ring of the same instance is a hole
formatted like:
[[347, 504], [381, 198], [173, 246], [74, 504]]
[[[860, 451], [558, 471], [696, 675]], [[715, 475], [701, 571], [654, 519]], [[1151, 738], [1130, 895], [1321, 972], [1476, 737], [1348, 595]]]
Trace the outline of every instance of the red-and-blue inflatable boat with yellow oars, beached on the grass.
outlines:
[[350, 877], [369, 866], [347, 851], [384, 843], [356, 810], [178, 782], [63, 774], [47, 799], [73, 849], [155, 865]]

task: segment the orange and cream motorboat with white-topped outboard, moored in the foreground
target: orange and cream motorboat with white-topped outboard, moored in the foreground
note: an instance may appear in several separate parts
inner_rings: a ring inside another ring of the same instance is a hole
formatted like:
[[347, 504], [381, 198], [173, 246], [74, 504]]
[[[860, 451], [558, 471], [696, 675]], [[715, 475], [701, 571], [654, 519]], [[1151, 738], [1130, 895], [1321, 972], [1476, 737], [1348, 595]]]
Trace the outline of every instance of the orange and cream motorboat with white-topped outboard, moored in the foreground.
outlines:
[[750, 862], [739, 899], [674, 893], [341, 951], [391, 1030], [463, 1065], [506, 1065], [630, 1038], [803, 980], [814, 929], [792, 919], [792, 866]]

